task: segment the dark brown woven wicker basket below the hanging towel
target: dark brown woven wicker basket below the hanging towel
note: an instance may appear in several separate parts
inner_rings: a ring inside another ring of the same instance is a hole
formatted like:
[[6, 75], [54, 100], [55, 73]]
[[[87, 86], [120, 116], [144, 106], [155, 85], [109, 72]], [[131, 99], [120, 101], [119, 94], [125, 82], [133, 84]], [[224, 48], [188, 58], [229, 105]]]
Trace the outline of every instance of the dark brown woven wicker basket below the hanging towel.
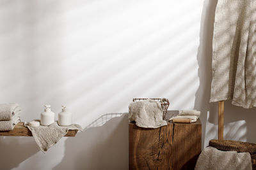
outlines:
[[256, 144], [242, 141], [216, 140], [209, 141], [209, 146], [223, 151], [249, 152], [252, 159], [252, 169], [256, 169]]

